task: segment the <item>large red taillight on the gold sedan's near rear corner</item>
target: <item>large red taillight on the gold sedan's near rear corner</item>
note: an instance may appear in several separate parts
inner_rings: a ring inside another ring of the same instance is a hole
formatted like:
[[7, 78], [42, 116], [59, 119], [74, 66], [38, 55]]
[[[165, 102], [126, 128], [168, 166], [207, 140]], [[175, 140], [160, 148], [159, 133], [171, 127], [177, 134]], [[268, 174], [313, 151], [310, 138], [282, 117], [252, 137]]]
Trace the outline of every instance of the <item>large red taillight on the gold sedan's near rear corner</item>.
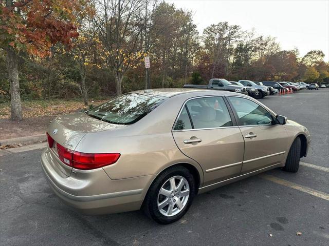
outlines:
[[60, 160], [65, 165], [81, 170], [90, 170], [108, 166], [114, 164], [120, 157], [119, 153], [81, 153], [66, 149], [60, 144], [57, 144], [57, 150]]

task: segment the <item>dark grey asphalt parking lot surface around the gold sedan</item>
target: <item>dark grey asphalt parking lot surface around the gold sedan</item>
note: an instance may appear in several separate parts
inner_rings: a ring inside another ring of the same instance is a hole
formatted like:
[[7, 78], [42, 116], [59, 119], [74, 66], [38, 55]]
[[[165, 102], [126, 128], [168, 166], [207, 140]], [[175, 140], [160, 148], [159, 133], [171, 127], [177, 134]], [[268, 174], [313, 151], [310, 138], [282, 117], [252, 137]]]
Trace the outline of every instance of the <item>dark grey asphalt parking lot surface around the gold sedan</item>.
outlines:
[[0, 156], [0, 244], [328, 245], [329, 89], [260, 101], [312, 135], [298, 173], [271, 170], [198, 195], [185, 217], [161, 226], [140, 211], [81, 215], [49, 188], [41, 149], [7, 154]]

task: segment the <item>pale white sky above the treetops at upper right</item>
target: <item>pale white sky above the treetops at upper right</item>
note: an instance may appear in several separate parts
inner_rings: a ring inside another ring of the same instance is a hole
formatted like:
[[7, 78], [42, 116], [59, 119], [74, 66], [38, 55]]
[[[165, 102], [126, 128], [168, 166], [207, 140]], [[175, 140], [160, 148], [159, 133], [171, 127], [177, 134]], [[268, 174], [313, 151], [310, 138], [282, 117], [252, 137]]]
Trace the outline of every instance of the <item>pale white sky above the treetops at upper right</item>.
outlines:
[[284, 50], [298, 48], [300, 55], [322, 50], [329, 61], [329, 0], [166, 0], [192, 10], [200, 34], [218, 22], [255, 28], [273, 36]]

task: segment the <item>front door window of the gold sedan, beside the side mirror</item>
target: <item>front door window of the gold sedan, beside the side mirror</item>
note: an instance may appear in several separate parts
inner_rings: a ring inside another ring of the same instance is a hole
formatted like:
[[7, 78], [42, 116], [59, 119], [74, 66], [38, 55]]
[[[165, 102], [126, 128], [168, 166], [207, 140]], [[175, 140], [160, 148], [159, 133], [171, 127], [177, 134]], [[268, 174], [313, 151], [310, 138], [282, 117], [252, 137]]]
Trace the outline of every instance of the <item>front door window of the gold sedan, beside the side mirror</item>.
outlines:
[[241, 97], [228, 97], [239, 118], [239, 126], [271, 125], [271, 113], [253, 101]]

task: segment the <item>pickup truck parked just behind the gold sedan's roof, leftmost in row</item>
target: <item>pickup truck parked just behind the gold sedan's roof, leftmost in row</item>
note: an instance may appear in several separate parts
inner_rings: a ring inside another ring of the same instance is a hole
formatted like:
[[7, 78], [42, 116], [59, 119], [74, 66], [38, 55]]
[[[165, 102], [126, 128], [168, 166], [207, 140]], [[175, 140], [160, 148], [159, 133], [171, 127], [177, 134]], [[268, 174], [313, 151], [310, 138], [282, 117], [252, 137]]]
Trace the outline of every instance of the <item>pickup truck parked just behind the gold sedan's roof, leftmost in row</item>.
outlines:
[[234, 86], [224, 78], [212, 78], [209, 80], [208, 86], [206, 85], [184, 85], [184, 88], [199, 88], [211, 90], [233, 91], [247, 95], [248, 91], [245, 87]]

